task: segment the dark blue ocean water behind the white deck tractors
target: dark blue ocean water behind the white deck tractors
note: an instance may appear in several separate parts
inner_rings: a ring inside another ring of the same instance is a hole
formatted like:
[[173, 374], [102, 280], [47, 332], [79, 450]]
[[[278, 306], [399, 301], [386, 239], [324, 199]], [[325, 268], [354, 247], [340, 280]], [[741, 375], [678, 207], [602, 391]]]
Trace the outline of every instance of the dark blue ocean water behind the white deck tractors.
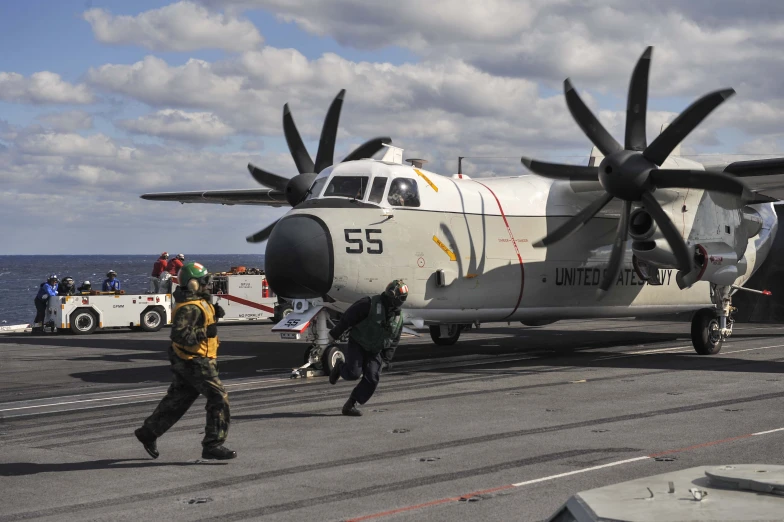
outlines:
[[[62, 280], [71, 276], [79, 286], [90, 281], [100, 289], [106, 272], [115, 270], [126, 292], [146, 292], [152, 265], [158, 256], [2, 256], [0, 255], [0, 324], [32, 323], [33, 299], [49, 274]], [[223, 272], [232, 266], [264, 268], [264, 255], [185, 254], [185, 261], [198, 261], [210, 272]]]

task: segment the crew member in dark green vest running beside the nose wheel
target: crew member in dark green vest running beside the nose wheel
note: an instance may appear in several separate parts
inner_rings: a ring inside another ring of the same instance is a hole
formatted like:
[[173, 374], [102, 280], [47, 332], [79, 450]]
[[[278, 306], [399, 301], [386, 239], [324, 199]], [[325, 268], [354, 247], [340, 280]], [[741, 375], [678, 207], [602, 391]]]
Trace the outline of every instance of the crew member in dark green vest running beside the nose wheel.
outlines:
[[400, 309], [407, 297], [408, 286], [401, 280], [392, 281], [382, 294], [363, 297], [351, 305], [337, 326], [329, 331], [334, 342], [351, 328], [343, 352], [346, 360], [338, 361], [333, 367], [329, 383], [335, 384], [340, 377], [347, 381], [362, 377], [343, 405], [343, 415], [362, 415], [357, 403], [365, 404], [376, 391], [381, 365], [392, 360], [400, 341], [403, 331]]

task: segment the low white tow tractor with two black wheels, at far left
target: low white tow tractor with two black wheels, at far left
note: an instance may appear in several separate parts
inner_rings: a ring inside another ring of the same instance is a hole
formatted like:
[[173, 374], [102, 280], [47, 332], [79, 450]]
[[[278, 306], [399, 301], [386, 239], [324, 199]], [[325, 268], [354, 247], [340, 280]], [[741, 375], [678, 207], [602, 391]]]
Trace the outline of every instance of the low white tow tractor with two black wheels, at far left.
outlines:
[[45, 330], [70, 329], [77, 335], [123, 326], [157, 332], [165, 324], [171, 324], [170, 294], [90, 292], [51, 297], [44, 319]]

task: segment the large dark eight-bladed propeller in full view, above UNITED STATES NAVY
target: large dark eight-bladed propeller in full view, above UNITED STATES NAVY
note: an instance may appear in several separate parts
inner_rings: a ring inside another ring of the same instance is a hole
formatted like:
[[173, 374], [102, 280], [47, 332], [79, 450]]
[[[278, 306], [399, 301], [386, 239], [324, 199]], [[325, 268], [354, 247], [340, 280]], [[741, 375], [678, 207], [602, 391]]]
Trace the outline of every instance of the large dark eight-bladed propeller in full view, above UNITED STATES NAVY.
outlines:
[[585, 225], [610, 201], [623, 201], [616, 238], [607, 270], [599, 284], [597, 299], [601, 299], [613, 283], [623, 265], [626, 241], [629, 234], [629, 215], [632, 203], [640, 201], [659, 226], [675, 255], [677, 268], [682, 274], [693, 270], [689, 248], [670, 217], [653, 193], [657, 188], [695, 188], [722, 192], [742, 200], [751, 199], [752, 193], [743, 181], [721, 172], [702, 170], [660, 169], [675, 147], [693, 131], [708, 114], [735, 94], [733, 89], [722, 89], [706, 94], [687, 107], [677, 118], [648, 145], [645, 135], [645, 118], [648, 105], [648, 71], [653, 47], [642, 53], [632, 72], [626, 102], [626, 134], [622, 147], [602, 126], [596, 116], [582, 101], [571, 81], [564, 81], [566, 105], [572, 117], [588, 139], [604, 154], [598, 167], [562, 165], [522, 158], [522, 163], [532, 172], [551, 179], [572, 182], [598, 181], [605, 194], [589, 204], [569, 221], [552, 231], [533, 246], [545, 247], [560, 241]]

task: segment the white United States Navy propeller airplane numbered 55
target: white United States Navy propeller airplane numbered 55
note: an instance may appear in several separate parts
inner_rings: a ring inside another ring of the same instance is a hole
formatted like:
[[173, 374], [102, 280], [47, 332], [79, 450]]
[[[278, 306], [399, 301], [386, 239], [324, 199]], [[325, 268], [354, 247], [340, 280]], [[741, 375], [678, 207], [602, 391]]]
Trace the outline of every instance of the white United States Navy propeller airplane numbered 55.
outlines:
[[[428, 325], [437, 344], [453, 344], [462, 328], [482, 322], [697, 311], [695, 349], [715, 354], [732, 333], [732, 295], [776, 236], [772, 202], [784, 199], [784, 180], [775, 176], [784, 173], [784, 158], [706, 170], [673, 155], [732, 89], [700, 98], [648, 144], [651, 54], [646, 49], [632, 74], [623, 145], [565, 81], [567, 106], [595, 145], [589, 166], [523, 158], [535, 174], [442, 176], [422, 160], [405, 165], [389, 138], [368, 141], [333, 164], [341, 91], [315, 162], [284, 106], [297, 176], [248, 165], [267, 188], [142, 198], [291, 205], [248, 241], [267, 240], [270, 285], [298, 303], [297, 315], [275, 330], [305, 333], [312, 343], [306, 361], [326, 371], [341, 356], [328, 346], [327, 309], [345, 310], [394, 278], [408, 283], [408, 324]], [[383, 149], [381, 159], [371, 159]]]

